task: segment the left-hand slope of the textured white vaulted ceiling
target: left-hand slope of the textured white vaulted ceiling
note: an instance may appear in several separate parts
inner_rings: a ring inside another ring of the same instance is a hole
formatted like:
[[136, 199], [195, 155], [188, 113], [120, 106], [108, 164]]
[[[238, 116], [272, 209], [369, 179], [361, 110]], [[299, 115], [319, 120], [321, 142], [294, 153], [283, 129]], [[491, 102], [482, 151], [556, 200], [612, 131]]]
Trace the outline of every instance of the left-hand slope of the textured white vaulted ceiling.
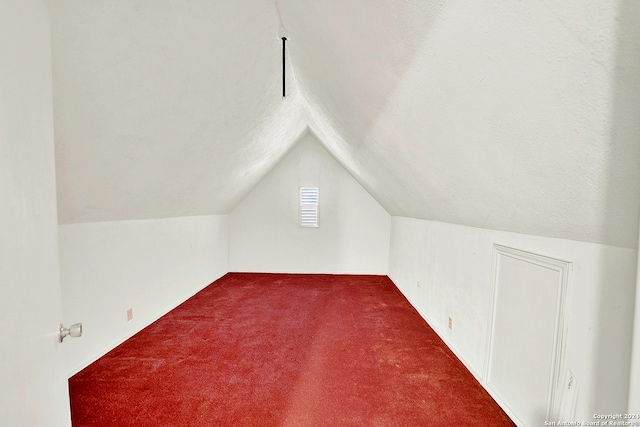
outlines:
[[60, 223], [225, 213], [305, 129], [272, 1], [49, 8]]

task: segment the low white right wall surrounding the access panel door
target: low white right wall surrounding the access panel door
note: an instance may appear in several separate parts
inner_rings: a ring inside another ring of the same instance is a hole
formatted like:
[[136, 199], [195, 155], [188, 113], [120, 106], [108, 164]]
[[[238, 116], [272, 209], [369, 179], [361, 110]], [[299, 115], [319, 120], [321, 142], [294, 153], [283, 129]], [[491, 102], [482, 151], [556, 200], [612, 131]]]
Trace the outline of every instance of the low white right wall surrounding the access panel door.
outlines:
[[573, 263], [565, 367], [578, 382], [576, 419], [626, 412], [636, 250], [392, 217], [389, 276], [482, 380], [494, 243]]

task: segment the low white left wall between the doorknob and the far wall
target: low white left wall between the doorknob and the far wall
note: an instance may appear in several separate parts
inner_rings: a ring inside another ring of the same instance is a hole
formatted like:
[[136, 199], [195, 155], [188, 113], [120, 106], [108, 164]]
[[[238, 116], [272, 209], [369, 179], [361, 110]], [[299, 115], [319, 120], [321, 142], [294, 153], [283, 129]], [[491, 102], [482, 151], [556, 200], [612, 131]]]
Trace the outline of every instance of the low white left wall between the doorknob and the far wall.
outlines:
[[[226, 216], [61, 225], [65, 321], [74, 374], [228, 271]], [[127, 309], [133, 320], [127, 322]], [[65, 342], [66, 345], [66, 342]]]

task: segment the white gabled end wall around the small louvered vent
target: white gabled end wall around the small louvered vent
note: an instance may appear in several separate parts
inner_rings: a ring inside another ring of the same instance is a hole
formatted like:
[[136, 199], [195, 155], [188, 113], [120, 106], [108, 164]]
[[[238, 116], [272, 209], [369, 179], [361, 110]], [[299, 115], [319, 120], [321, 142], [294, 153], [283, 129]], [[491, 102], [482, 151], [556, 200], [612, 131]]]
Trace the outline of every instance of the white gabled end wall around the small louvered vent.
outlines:
[[[298, 225], [298, 188], [320, 188], [318, 228]], [[312, 134], [231, 212], [230, 271], [387, 274], [391, 218]]]

